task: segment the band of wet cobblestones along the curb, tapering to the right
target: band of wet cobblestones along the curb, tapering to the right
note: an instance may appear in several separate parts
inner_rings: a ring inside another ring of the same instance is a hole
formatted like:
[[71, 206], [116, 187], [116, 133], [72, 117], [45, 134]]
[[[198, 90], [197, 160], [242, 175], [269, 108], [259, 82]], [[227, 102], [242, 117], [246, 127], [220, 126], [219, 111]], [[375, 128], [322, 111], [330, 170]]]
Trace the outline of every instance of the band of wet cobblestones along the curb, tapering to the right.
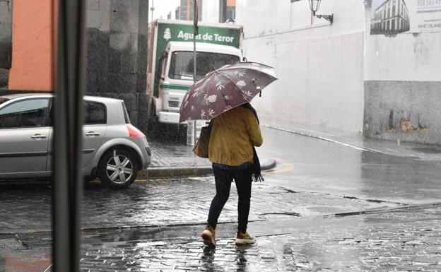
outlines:
[[[40, 184], [21, 187], [11, 186], [0, 192], [3, 218], [0, 232], [50, 230], [51, 188]], [[84, 192], [83, 227], [204, 223], [214, 191], [213, 177], [140, 181], [123, 191], [93, 184]], [[220, 222], [231, 222], [237, 218], [234, 184], [231, 191]], [[251, 206], [249, 220], [265, 220], [271, 213], [326, 215], [396, 204], [305, 194], [262, 183], [254, 184]]]

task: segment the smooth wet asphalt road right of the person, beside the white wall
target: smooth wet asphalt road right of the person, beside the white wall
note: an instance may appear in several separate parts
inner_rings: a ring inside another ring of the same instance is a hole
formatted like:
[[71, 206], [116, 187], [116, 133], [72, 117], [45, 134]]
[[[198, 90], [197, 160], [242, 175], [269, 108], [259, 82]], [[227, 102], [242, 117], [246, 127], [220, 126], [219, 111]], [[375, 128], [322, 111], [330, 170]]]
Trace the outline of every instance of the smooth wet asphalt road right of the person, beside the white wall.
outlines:
[[399, 203], [441, 200], [441, 160], [360, 150], [276, 129], [262, 131], [265, 146], [258, 152], [278, 162], [269, 184]]

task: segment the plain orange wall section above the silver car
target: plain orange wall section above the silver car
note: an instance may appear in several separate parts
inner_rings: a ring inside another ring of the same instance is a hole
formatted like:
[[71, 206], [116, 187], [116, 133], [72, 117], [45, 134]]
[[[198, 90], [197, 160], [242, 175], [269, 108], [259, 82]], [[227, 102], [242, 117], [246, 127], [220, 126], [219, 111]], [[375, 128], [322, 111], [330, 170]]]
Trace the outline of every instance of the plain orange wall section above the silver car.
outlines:
[[9, 90], [53, 90], [52, 0], [14, 0]]

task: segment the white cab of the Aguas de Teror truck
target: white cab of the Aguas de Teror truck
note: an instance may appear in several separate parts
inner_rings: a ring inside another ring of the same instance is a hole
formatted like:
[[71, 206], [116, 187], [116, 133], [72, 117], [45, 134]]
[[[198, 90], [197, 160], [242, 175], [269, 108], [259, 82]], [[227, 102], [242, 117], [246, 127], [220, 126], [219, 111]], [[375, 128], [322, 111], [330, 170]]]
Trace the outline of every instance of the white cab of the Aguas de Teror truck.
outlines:
[[[155, 114], [161, 123], [178, 124], [180, 106], [185, 93], [194, 83], [193, 42], [168, 42], [158, 63], [158, 95], [155, 95]], [[240, 49], [228, 45], [196, 42], [196, 81], [210, 71], [242, 59]]]

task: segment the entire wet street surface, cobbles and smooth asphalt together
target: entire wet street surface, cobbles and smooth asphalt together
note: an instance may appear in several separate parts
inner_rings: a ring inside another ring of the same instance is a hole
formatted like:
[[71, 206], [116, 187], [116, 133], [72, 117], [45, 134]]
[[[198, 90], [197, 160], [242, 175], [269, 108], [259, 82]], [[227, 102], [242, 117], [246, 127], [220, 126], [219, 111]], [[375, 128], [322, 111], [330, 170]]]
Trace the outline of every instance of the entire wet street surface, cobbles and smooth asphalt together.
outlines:
[[[92, 184], [81, 271], [441, 271], [439, 161], [262, 131], [257, 152], [278, 165], [253, 184], [249, 231], [257, 244], [232, 244], [234, 184], [216, 250], [199, 239], [213, 177], [140, 180], [122, 191]], [[188, 148], [181, 151], [185, 160]], [[165, 162], [175, 163], [155, 163]], [[45, 271], [50, 185], [0, 186], [0, 271]]]

